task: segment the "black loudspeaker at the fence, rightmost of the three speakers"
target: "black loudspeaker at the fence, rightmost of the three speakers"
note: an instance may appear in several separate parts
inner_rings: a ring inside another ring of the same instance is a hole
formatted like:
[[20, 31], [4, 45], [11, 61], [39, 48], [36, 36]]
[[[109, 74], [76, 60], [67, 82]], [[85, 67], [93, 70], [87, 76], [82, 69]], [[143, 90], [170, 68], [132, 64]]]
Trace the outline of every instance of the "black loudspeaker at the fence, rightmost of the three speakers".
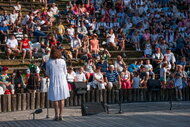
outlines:
[[147, 88], [149, 91], [160, 91], [161, 90], [160, 80], [149, 79], [147, 82]]

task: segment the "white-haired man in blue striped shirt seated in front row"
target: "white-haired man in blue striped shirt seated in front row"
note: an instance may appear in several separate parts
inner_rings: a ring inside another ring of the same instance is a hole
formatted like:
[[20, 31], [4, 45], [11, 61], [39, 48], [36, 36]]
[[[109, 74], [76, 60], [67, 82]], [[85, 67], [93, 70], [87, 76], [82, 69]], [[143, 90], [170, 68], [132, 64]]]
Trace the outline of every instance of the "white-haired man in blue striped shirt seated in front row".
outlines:
[[121, 88], [121, 80], [119, 74], [114, 70], [114, 65], [109, 66], [109, 70], [105, 75], [105, 82], [109, 90], [112, 88]]

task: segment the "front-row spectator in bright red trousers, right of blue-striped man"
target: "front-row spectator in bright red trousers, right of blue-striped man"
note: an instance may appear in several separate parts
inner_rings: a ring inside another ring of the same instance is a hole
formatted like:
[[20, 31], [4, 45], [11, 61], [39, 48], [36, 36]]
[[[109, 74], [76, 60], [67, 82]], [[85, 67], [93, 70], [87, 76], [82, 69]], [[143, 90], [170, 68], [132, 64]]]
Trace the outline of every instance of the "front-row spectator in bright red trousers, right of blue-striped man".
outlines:
[[121, 88], [122, 89], [129, 89], [131, 88], [131, 77], [130, 72], [127, 70], [127, 66], [123, 67], [123, 71], [121, 72]]

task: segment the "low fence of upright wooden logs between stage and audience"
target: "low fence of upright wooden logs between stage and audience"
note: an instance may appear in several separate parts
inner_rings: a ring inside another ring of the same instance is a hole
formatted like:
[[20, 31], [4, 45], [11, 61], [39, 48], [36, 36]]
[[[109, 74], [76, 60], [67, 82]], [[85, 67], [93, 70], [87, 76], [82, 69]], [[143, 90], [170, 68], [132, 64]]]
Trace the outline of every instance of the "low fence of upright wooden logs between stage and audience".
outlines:
[[[183, 100], [190, 100], [190, 88], [182, 89]], [[79, 106], [83, 102], [105, 102], [108, 104], [117, 103], [121, 98], [122, 102], [152, 102], [152, 101], [169, 101], [170, 95], [172, 100], [176, 100], [175, 89], [161, 89], [160, 92], [150, 92], [147, 89], [128, 89], [120, 90], [91, 90], [85, 95], [75, 95], [71, 92], [70, 98], [65, 100], [65, 106]], [[0, 112], [34, 110], [47, 107], [47, 93], [37, 92], [22, 93], [16, 95], [0, 96]], [[52, 108], [53, 103], [49, 101]]]

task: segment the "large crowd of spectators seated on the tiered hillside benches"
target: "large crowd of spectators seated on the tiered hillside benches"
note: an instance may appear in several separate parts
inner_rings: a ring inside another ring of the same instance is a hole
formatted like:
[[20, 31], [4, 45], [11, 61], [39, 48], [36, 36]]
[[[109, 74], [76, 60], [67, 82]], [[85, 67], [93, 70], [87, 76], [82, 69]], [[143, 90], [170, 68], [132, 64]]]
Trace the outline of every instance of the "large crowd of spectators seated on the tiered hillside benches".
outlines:
[[[146, 88], [150, 78], [159, 79], [163, 88], [176, 87], [180, 94], [181, 88], [189, 86], [189, 0], [72, 0], [66, 10], [59, 9], [45, 2], [23, 16], [17, 2], [12, 13], [4, 11], [0, 41], [6, 43], [7, 58], [22, 53], [24, 62], [27, 53], [32, 60], [41, 52], [45, 70], [56, 47], [67, 60], [84, 60], [76, 73], [76, 67], [68, 67], [70, 90], [78, 81], [87, 82], [88, 89]], [[63, 25], [63, 17], [68, 26]], [[47, 34], [48, 28], [55, 30]], [[63, 46], [65, 41], [69, 50]], [[127, 65], [129, 47], [143, 52], [142, 60]], [[121, 51], [114, 62], [109, 60], [111, 50]], [[2, 77], [0, 84], [5, 84]]]

